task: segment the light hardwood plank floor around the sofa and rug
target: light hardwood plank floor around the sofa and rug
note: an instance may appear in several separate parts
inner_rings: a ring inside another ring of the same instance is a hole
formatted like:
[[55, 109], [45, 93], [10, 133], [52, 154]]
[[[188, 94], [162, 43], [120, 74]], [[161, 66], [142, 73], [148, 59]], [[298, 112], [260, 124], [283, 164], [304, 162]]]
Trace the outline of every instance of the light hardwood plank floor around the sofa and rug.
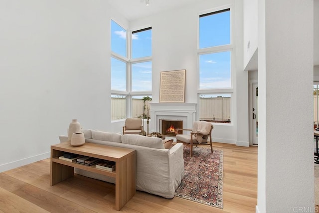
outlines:
[[[201, 146], [210, 148], [209, 145]], [[128, 213], [255, 213], [257, 205], [257, 147], [213, 143], [224, 150], [224, 208], [181, 198], [165, 199], [145, 192], [121, 209]], [[50, 159], [0, 173], [0, 213], [111, 213], [115, 185], [75, 175], [50, 186]]]

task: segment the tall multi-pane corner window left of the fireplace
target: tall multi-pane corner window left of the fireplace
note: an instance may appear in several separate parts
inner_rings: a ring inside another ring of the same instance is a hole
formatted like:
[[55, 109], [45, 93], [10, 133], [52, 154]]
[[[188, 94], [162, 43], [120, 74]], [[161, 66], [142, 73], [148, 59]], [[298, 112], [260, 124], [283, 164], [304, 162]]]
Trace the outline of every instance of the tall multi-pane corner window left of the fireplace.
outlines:
[[131, 39], [111, 20], [112, 120], [145, 116], [144, 99], [152, 97], [152, 28], [132, 31]]

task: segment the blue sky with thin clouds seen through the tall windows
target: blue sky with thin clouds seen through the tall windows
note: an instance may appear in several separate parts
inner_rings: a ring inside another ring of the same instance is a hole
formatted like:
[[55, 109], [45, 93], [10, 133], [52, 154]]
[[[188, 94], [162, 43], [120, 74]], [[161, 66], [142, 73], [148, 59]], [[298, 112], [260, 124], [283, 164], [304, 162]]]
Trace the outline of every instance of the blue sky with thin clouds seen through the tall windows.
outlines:
[[[111, 33], [112, 51], [127, 57], [126, 30], [111, 21]], [[199, 48], [226, 44], [230, 44], [230, 11], [200, 17]], [[132, 35], [132, 58], [151, 56], [151, 54], [152, 30], [134, 33]], [[230, 61], [230, 51], [199, 55], [199, 88], [230, 88]], [[111, 59], [112, 90], [126, 90], [125, 69], [124, 62]], [[132, 91], [152, 91], [152, 62], [132, 64]]]

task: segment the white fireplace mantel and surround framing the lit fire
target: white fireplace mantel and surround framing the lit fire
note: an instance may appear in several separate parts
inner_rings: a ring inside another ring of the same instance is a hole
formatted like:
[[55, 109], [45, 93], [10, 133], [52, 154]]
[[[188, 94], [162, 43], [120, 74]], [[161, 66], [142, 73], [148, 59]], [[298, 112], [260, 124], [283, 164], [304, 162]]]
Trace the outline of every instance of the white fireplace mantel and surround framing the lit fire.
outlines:
[[191, 129], [196, 119], [196, 104], [194, 103], [150, 103], [152, 131], [160, 131], [160, 119], [183, 120], [183, 128]]

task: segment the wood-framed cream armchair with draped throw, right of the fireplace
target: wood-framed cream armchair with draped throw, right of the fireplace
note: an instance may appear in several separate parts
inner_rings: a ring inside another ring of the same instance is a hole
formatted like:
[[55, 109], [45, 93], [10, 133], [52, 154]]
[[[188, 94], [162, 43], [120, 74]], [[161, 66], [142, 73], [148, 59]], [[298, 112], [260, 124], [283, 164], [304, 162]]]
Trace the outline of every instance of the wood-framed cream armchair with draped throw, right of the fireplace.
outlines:
[[[210, 150], [213, 152], [211, 130], [214, 126], [207, 121], [195, 121], [193, 123], [193, 129], [176, 129], [176, 142], [183, 143], [190, 148], [190, 157], [193, 155], [193, 146], [207, 145], [208, 137]], [[180, 134], [180, 132], [191, 131], [190, 134]]]

